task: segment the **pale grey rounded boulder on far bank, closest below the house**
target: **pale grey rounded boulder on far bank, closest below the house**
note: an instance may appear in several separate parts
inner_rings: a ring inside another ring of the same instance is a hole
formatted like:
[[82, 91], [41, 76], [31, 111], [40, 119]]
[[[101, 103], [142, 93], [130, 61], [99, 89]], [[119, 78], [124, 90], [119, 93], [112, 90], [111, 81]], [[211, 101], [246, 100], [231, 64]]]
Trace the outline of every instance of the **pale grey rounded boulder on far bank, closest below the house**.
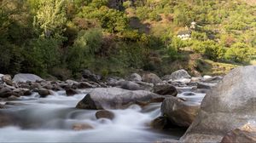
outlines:
[[172, 72], [171, 75], [166, 75], [163, 77], [164, 80], [179, 80], [183, 78], [191, 78], [191, 76], [185, 70], [178, 70], [176, 72]]

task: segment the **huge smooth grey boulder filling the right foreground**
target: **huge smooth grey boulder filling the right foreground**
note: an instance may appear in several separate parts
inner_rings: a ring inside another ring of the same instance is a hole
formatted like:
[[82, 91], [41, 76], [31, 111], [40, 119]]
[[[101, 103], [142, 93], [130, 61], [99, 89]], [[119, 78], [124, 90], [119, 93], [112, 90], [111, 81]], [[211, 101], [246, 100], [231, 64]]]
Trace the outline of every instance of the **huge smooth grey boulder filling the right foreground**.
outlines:
[[225, 134], [256, 120], [256, 66], [232, 70], [210, 90], [183, 142], [220, 142]]

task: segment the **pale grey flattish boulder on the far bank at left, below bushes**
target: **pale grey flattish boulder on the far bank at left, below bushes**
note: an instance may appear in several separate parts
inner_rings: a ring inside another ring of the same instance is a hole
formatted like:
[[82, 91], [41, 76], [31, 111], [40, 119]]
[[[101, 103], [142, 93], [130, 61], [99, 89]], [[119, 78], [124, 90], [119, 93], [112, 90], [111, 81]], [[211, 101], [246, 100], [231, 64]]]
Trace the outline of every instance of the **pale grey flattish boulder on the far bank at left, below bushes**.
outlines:
[[30, 74], [30, 73], [19, 73], [16, 74], [13, 78], [13, 82], [15, 83], [26, 83], [26, 82], [36, 82], [36, 81], [43, 81], [41, 77], [37, 75]]

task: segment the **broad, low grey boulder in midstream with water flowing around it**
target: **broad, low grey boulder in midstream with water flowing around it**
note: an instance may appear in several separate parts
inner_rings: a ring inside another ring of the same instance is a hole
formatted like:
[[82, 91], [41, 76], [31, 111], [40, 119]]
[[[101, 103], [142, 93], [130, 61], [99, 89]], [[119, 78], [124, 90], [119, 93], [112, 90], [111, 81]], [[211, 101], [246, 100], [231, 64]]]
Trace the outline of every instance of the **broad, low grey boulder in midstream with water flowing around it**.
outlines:
[[97, 88], [85, 95], [76, 107], [79, 109], [123, 109], [132, 104], [145, 105], [162, 100], [164, 96], [144, 90]]

